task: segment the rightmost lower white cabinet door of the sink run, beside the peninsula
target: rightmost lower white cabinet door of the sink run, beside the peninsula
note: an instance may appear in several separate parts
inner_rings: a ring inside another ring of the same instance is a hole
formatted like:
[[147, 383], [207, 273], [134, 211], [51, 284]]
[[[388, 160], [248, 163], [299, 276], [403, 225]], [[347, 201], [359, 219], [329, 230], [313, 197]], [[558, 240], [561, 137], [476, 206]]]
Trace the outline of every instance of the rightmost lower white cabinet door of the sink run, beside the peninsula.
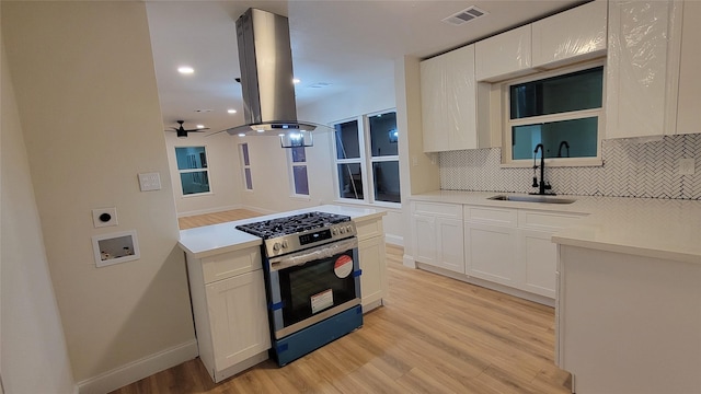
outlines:
[[518, 234], [518, 256], [524, 278], [521, 289], [555, 298], [558, 245], [550, 241], [552, 233], [519, 230]]

